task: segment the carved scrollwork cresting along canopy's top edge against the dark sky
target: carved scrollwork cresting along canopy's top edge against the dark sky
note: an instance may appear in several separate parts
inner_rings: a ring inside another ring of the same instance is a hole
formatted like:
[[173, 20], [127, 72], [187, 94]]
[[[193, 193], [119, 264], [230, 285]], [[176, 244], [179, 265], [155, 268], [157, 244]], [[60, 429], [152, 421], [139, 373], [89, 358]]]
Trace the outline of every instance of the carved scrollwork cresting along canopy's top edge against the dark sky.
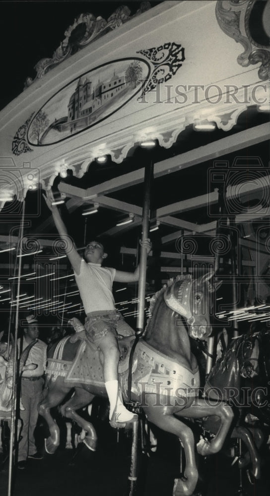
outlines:
[[36, 79], [43, 77], [49, 70], [59, 65], [78, 52], [85, 46], [89, 45], [95, 39], [112, 31], [135, 16], [151, 8], [149, 1], [142, 1], [140, 8], [134, 15], [126, 5], [118, 7], [116, 11], [106, 21], [102, 17], [95, 17], [93, 14], [80, 14], [74, 19], [74, 22], [65, 31], [65, 38], [60, 46], [54, 52], [52, 58], [41, 59], [36, 65], [37, 75], [34, 79], [27, 77], [24, 83], [24, 89], [30, 86]]

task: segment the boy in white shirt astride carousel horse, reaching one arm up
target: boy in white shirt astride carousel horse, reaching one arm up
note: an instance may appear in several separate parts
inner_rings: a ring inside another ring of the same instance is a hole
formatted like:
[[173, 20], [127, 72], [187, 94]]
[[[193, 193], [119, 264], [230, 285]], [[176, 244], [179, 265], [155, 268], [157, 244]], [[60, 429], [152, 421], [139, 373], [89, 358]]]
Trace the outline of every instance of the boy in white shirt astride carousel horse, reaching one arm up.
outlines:
[[[43, 196], [52, 212], [60, 236], [67, 242], [68, 232], [58, 208], [52, 205], [52, 193], [47, 192], [47, 196]], [[141, 243], [141, 246], [147, 249], [148, 255], [151, 250], [150, 241], [146, 240]], [[117, 335], [121, 324], [123, 324], [123, 320], [121, 320], [123, 317], [116, 311], [112, 284], [113, 281], [124, 283], [138, 281], [139, 265], [135, 272], [124, 272], [103, 267], [102, 262], [107, 257], [107, 253], [104, 252], [103, 245], [98, 241], [91, 241], [86, 246], [85, 260], [78, 254], [70, 238], [66, 253], [74, 270], [75, 280], [86, 313], [87, 339], [103, 353], [103, 375], [110, 402], [110, 424], [112, 427], [122, 427], [126, 423], [136, 421], [137, 415], [126, 409], [119, 389], [118, 363], [120, 352]], [[129, 326], [125, 323], [125, 327]], [[121, 334], [121, 332], [119, 333]], [[133, 329], [130, 328], [130, 334], [133, 333]]]

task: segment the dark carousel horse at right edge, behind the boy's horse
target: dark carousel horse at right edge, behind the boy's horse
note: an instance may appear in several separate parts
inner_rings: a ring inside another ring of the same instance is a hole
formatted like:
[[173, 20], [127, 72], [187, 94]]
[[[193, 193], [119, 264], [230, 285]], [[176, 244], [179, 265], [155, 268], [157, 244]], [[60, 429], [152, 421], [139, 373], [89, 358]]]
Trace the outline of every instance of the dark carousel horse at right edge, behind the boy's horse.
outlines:
[[[238, 459], [240, 469], [251, 463], [251, 474], [260, 478], [261, 460], [258, 449], [264, 434], [260, 428], [246, 422], [252, 414], [270, 425], [270, 332], [249, 332], [233, 338], [222, 357], [210, 371], [204, 386], [205, 396], [229, 404], [235, 412], [232, 438], [243, 441], [247, 452]], [[204, 420], [205, 433], [214, 434], [219, 420]]]

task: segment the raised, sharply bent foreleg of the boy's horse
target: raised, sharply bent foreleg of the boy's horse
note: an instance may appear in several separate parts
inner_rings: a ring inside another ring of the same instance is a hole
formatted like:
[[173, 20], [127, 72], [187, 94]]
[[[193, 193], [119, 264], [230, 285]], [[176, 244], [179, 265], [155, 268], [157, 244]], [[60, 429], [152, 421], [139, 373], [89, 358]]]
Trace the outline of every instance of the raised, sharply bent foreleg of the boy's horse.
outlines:
[[227, 403], [211, 402], [211, 400], [207, 398], [194, 398], [194, 401], [189, 407], [175, 413], [176, 415], [181, 415], [189, 419], [200, 419], [211, 416], [219, 417], [219, 428], [213, 439], [210, 442], [206, 439], [201, 439], [197, 444], [198, 453], [202, 456], [220, 451], [234, 416], [231, 407], [227, 405]]

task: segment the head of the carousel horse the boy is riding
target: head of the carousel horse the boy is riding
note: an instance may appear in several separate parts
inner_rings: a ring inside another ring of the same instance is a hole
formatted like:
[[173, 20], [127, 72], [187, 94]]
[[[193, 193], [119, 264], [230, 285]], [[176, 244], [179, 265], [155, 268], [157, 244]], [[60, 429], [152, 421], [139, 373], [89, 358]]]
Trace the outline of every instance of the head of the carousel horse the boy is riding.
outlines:
[[208, 272], [195, 280], [191, 275], [177, 276], [164, 293], [168, 307], [186, 319], [189, 335], [195, 339], [205, 339], [211, 334], [209, 308], [214, 288], [209, 280], [213, 275], [213, 271]]

